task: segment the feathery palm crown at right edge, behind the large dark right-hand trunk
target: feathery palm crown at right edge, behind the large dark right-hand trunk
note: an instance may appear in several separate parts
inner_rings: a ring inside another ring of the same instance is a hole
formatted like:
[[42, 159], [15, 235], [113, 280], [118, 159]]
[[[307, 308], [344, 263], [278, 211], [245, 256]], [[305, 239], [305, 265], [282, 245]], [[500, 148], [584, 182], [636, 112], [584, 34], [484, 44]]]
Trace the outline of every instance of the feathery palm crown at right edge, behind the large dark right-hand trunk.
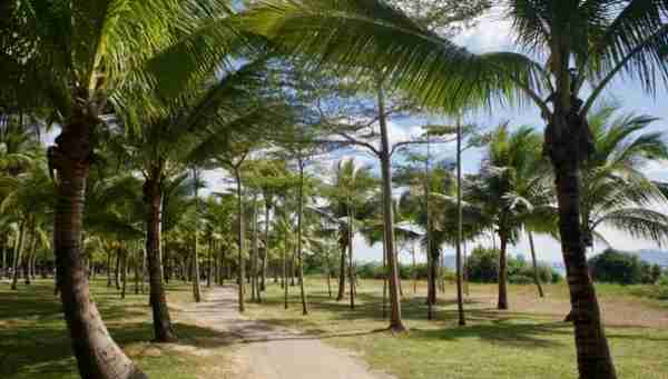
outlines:
[[582, 164], [581, 220], [584, 242], [605, 241], [597, 229], [608, 227], [658, 243], [668, 238], [668, 217], [654, 208], [668, 200], [641, 169], [655, 159], [668, 159], [664, 134], [645, 130], [656, 118], [616, 116], [618, 107], [603, 106], [589, 117], [596, 152]]

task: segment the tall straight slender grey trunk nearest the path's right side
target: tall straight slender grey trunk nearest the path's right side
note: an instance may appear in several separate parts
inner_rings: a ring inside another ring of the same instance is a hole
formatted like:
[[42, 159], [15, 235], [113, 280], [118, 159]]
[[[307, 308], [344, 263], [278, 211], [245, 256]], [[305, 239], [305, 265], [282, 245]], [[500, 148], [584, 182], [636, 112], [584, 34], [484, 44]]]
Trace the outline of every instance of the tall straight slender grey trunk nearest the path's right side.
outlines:
[[394, 248], [394, 210], [392, 209], [392, 169], [390, 156], [390, 138], [385, 120], [385, 103], [382, 84], [379, 84], [379, 114], [381, 126], [381, 167], [383, 177], [383, 227], [385, 233], [387, 266], [390, 267], [390, 328], [401, 332], [406, 328], [401, 318], [401, 299], [399, 296], [399, 267]]

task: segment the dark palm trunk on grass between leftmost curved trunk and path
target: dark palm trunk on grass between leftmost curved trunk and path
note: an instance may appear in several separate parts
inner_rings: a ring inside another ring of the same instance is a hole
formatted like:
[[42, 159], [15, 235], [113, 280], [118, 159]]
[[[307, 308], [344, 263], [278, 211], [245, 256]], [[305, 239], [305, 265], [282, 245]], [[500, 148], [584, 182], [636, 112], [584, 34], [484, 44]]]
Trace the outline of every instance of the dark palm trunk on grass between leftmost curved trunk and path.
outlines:
[[156, 342], [170, 342], [176, 340], [176, 335], [171, 328], [171, 318], [169, 316], [167, 296], [163, 283], [163, 255], [160, 253], [163, 191], [160, 189], [160, 183], [155, 179], [147, 181], [145, 188], [145, 195], [149, 207], [146, 221], [147, 233], [145, 256], [148, 260], [149, 302], [153, 311], [154, 340]]

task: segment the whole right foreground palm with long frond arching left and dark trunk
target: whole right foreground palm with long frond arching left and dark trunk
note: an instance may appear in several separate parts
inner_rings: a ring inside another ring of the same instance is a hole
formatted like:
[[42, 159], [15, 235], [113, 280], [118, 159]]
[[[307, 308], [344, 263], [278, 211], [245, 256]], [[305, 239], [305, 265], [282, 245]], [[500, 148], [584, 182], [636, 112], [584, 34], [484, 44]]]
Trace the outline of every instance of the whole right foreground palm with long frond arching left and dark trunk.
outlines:
[[[587, 116], [615, 78], [637, 79], [648, 91], [668, 82], [668, 3], [502, 0], [499, 6], [518, 46], [543, 62], [514, 52], [473, 54], [382, 0], [264, 1], [247, 20], [284, 52], [342, 68], [381, 68], [390, 83], [436, 109], [454, 112], [494, 99], [534, 103], [548, 124], [544, 150], [556, 173], [578, 369], [583, 378], [616, 378], [587, 269], [579, 166], [592, 150]], [[580, 99], [586, 83], [591, 91]]]

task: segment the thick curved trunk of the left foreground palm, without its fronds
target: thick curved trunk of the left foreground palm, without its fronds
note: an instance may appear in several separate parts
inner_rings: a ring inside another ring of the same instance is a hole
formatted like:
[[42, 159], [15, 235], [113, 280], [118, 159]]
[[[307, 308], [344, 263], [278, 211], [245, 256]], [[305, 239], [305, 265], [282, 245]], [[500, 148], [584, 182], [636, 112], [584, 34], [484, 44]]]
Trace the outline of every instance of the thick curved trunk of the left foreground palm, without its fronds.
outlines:
[[58, 270], [57, 288], [82, 378], [147, 378], [111, 339], [90, 298], [88, 277], [81, 260], [81, 225], [86, 181], [90, 167], [90, 128], [97, 121], [75, 110], [49, 149], [49, 160], [58, 172], [53, 246]]

